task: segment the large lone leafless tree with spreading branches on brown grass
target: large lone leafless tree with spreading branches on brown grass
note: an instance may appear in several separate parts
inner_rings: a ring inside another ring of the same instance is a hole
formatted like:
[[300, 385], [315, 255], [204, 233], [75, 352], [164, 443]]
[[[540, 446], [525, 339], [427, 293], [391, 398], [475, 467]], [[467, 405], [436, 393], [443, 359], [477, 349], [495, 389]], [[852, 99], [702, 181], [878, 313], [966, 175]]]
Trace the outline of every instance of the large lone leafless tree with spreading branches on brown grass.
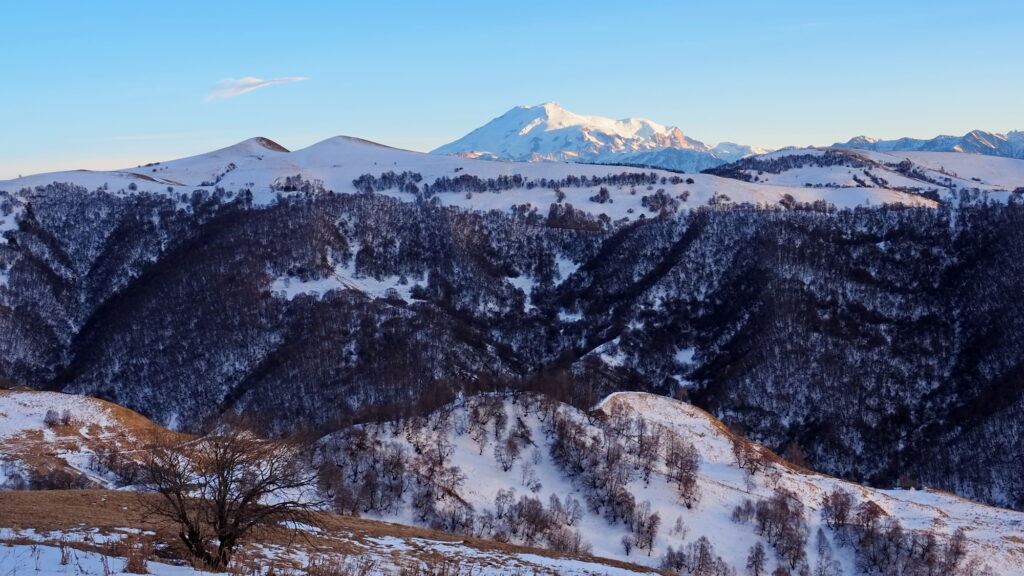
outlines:
[[283, 522], [312, 522], [316, 475], [301, 446], [265, 440], [224, 425], [197, 440], [164, 435], [144, 452], [150, 516], [177, 525], [188, 552], [210, 570], [224, 570], [253, 532]]

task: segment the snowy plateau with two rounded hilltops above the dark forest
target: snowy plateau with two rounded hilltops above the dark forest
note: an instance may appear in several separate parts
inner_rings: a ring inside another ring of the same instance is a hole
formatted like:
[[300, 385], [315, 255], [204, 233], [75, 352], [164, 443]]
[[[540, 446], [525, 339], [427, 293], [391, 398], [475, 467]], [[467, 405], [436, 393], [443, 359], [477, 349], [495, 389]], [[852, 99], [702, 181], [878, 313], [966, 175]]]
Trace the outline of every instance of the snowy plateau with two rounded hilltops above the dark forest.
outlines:
[[[678, 137], [665, 135], [668, 132], [659, 132], [660, 127], [645, 121], [613, 126], [623, 134], [663, 134], [669, 139], [676, 138], [673, 141], [684, 141], [681, 134]], [[929, 200], [914, 195], [870, 187], [816, 191], [629, 166], [488, 161], [410, 152], [349, 136], [336, 136], [295, 152], [286, 152], [266, 138], [251, 138], [208, 154], [138, 168], [109, 172], [51, 172], [2, 180], [0, 191], [17, 197], [24, 190], [52, 182], [71, 182], [88, 190], [106, 190], [115, 194], [151, 192], [175, 195], [185, 207], [183, 195], [196, 190], [213, 192], [221, 189], [227, 193], [246, 190], [252, 193], [255, 204], [267, 204], [279, 194], [295, 194], [296, 188], [303, 187], [312, 192], [355, 193], [358, 189], [353, 180], [362, 175], [378, 177], [386, 172], [415, 174], [418, 190], [445, 178], [476, 177], [487, 180], [519, 176], [512, 184], [495, 192], [467, 193], [473, 190], [473, 186], [460, 188], [459, 182], [454, 187], [459, 192], [453, 192], [453, 187], [433, 187], [440, 192], [432, 195], [432, 201], [479, 210], [510, 210], [517, 205], [527, 205], [547, 213], [550, 205], [558, 202], [560, 190], [565, 195], [564, 202], [575, 209], [592, 215], [606, 214], [614, 220], [634, 220], [642, 214], [656, 214], [658, 210], [646, 208], [643, 199], [658, 190], [677, 199], [676, 209], [682, 210], [708, 204], [713, 198], [716, 202], [776, 205], [785, 195], [802, 202], [825, 200], [839, 207], [884, 203], [932, 205]], [[653, 177], [650, 183], [644, 186], [609, 184], [601, 180], [622, 174], [653, 174]], [[566, 178], [579, 181], [569, 186], [556, 183]], [[608, 190], [608, 198], [604, 202], [592, 200], [602, 188]], [[418, 193], [398, 184], [385, 186], [376, 192], [409, 202], [421, 199]], [[13, 225], [13, 216], [0, 219], [0, 228]]]

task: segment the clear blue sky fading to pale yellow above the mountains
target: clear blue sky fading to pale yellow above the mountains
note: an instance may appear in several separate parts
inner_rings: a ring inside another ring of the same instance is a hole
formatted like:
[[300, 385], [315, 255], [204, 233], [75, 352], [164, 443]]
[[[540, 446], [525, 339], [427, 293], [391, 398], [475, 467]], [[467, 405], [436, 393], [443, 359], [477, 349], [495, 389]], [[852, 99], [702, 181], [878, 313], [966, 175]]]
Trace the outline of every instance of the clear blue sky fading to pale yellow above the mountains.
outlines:
[[427, 151], [548, 100], [767, 148], [1024, 129], [1019, 0], [34, 0], [0, 13], [0, 179], [256, 135]]

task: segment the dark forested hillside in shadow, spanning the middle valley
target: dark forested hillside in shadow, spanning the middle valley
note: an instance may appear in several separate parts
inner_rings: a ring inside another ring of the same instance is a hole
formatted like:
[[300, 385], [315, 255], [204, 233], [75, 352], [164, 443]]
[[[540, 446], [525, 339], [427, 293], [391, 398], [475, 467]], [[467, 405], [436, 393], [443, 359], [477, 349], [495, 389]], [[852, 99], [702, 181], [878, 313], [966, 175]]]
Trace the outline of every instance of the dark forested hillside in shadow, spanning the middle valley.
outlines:
[[[183, 429], [242, 411], [278, 433], [425, 413], [460, 392], [588, 407], [648, 390], [843, 478], [1024, 507], [1007, 457], [1024, 446], [1016, 195], [681, 209], [683, 177], [671, 194], [657, 174], [560, 180], [562, 199], [528, 175], [455, 190], [473, 181], [457, 172], [411, 192], [390, 188], [400, 170], [373, 171], [361, 192], [263, 202], [217, 187], [8, 191], [0, 378]], [[758, 190], [771, 189], [791, 190]], [[573, 194], [592, 195], [586, 210]], [[505, 195], [548, 204], [452, 200]], [[602, 215], [634, 200], [644, 217]]]

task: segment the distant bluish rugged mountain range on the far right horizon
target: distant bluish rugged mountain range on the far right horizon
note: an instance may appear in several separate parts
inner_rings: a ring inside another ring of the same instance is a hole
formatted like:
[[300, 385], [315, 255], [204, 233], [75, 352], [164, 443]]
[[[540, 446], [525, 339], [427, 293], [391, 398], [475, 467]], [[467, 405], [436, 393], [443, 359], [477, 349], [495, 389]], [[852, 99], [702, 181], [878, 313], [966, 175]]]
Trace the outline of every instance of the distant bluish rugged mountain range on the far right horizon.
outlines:
[[1014, 130], [1006, 134], [973, 130], [963, 136], [935, 136], [929, 139], [898, 138], [880, 140], [868, 136], [857, 136], [846, 142], [837, 142], [835, 148], [856, 148], [881, 152], [959, 152], [1024, 158], [1024, 132]]

